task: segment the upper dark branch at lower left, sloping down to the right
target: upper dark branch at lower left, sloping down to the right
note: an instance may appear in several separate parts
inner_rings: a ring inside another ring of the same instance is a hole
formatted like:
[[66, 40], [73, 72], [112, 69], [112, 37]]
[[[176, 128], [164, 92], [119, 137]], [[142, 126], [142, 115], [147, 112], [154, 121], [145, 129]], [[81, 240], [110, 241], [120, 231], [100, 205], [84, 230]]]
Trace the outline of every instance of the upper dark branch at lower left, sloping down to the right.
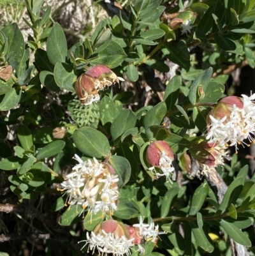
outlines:
[[34, 208], [33, 206], [29, 206], [28, 204], [0, 204], [0, 212], [3, 213], [27, 213], [34, 218], [37, 218], [42, 223], [45, 223], [56, 232], [60, 234], [64, 234], [65, 236], [70, 236], [69, 230], [65, 227], [59, 225], [59, 223], [55, 222], [48, 216], [43, 215], [38, 209]]

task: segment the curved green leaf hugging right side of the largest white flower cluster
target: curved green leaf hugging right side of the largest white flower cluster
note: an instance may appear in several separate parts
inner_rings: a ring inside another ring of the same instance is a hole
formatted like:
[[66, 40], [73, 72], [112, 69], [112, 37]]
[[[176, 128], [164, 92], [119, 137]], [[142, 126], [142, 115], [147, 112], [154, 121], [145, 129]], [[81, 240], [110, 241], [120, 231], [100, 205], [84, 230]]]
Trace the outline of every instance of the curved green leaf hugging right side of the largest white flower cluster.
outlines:
[[121, 187], [128, 183], [131, 176], [131, 166], [128, 160], [123, 156], [114, 155], [110, 157], [109, 163], [114, 168], [115, 174], [118, 175], [118, 186]]

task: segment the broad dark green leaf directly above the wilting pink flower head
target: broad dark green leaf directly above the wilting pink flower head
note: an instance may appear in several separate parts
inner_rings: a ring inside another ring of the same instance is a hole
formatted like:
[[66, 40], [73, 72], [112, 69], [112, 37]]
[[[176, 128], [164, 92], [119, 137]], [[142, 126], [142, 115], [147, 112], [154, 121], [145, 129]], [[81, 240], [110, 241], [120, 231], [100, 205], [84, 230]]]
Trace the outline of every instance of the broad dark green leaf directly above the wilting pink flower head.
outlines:
[[127, 55], [122, 47], [115, 41], [110, 41], [108, 46], [100, 52], [99, 56], [95, 59], [91, 59], [89, 63], [92, 65], [103, 63], [109, 68], [116, 68], [126, 59], [126, 57]]

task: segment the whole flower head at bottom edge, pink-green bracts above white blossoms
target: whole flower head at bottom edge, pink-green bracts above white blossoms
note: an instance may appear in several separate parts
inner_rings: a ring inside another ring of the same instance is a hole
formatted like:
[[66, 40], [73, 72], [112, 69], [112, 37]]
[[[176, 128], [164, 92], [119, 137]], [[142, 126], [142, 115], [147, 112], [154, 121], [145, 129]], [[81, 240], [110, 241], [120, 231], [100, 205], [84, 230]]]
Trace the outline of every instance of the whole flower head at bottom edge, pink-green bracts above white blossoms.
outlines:
[[[91, 232], [86, 234], [87, 240], [80, 241], [89, 244], [88, 250], [98, 249], [102, 255], [112, 253], [113, 255], [130, 255], [130, 248], [134, 246], [133, 238], [129, 237], [125, 225], [117, 220], [106, 220], [96, 226]], [[85, 246], [84, 245], [84, 246]], [[84, 248], [84, 246], [82, 248]]]

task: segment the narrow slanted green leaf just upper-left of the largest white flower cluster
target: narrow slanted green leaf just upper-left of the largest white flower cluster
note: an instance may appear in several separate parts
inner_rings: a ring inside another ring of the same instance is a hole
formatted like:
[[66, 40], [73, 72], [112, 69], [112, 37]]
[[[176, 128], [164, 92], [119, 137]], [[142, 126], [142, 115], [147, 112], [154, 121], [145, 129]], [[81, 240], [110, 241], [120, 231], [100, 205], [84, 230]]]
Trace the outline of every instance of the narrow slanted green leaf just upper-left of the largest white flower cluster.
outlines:
[[40, 151], [36, 155], [36, 158], [38, 160], [42, 160], [44, 158], [54, 156], [55, 154], [59, 153], [65, 145], [66, 142], [64, 142], [63, 140], [55, 140], [53, 142], [50, 142], [48, 145], [40, 149]]

